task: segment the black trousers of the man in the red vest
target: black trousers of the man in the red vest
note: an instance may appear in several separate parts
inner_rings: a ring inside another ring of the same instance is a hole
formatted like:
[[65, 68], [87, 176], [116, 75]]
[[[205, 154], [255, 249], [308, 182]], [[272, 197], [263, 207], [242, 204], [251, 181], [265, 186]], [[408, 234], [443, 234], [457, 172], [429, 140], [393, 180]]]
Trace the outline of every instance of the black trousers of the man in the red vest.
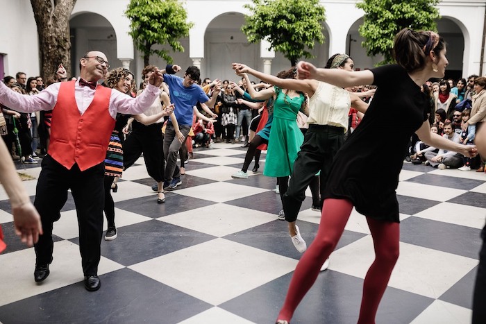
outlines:
[[68, 170], [51, 155], [42, 160], [34, 206], [40, 214], [44, 234], [35, 244], [36, 264], [50, 264], [53, 252], [53, 223], [60, 219], [60, 210], [71, 189], [79, 226], [79, 250], [84, 275], [97, 275], [103, 235], [104, 164], [80, 171], [77, 164]]

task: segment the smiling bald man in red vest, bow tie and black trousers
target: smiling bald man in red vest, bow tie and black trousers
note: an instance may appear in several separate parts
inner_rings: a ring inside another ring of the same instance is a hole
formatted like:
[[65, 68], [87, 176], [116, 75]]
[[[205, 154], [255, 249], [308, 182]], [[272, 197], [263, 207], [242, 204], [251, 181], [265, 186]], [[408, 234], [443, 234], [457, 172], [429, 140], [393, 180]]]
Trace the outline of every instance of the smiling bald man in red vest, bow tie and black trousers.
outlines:
[[101, 287], [98, 264], [103, 235], [103, 160], [115, 126], [117, 112], [141, 114], [158, 97], [162, 74], [149, 78], [146, 90], [131, 98], [115, 89], [97, 84], [110, 68], [104, 53], [87, 52], [80, 62], [81, 78], [53, 83], [35, 96], [17, 94], [0, 83], [0, 103], [19, 112], [53, 110], [51, 144], [42, 160], [34, 206], [39, 211], [43, 235], [35, 244], [35, 282], [49, 275], [52, 262], [53, 222], [71, 189], [79, 225], [79, 249], [85, 288]]

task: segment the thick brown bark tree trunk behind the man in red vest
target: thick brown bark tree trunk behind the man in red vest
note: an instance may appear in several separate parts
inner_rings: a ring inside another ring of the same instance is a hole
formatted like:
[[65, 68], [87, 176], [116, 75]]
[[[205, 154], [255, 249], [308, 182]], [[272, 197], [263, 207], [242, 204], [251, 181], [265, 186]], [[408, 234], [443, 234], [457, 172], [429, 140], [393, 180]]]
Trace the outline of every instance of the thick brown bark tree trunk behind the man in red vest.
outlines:
[[40, 75], [54, 78], [58, 65], [71, 76], [69, 17], [76, 0], [31, 0], [39, 36]]

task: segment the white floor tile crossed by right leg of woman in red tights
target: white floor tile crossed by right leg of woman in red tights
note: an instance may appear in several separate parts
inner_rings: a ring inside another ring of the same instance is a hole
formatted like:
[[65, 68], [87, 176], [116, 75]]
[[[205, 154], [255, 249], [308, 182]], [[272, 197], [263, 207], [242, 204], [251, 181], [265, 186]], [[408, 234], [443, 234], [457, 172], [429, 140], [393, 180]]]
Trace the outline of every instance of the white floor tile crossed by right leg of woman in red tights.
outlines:
[[[331, 270], [364, 278], [374, 260], [371, 235], [336, 250], [331, 259]], [[399, 261], [388, 285], [439, 298], [477, 264], [475, 259], [401, 242]]]

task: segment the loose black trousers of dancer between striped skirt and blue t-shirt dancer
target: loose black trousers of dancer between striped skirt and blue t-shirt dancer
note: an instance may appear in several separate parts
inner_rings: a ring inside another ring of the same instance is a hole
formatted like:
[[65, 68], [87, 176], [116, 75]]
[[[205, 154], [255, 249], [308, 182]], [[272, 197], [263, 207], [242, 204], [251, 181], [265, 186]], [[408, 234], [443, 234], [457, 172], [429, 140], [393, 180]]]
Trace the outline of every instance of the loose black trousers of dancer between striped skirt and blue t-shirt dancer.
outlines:
[[144, 153], [145, 167], [149, 176], [157, 182], [164, 180], [164, 136], [162, 123], [144, 126], [133, 121], [133, 131], [123, 143], [123, 167], [128, 169]]

